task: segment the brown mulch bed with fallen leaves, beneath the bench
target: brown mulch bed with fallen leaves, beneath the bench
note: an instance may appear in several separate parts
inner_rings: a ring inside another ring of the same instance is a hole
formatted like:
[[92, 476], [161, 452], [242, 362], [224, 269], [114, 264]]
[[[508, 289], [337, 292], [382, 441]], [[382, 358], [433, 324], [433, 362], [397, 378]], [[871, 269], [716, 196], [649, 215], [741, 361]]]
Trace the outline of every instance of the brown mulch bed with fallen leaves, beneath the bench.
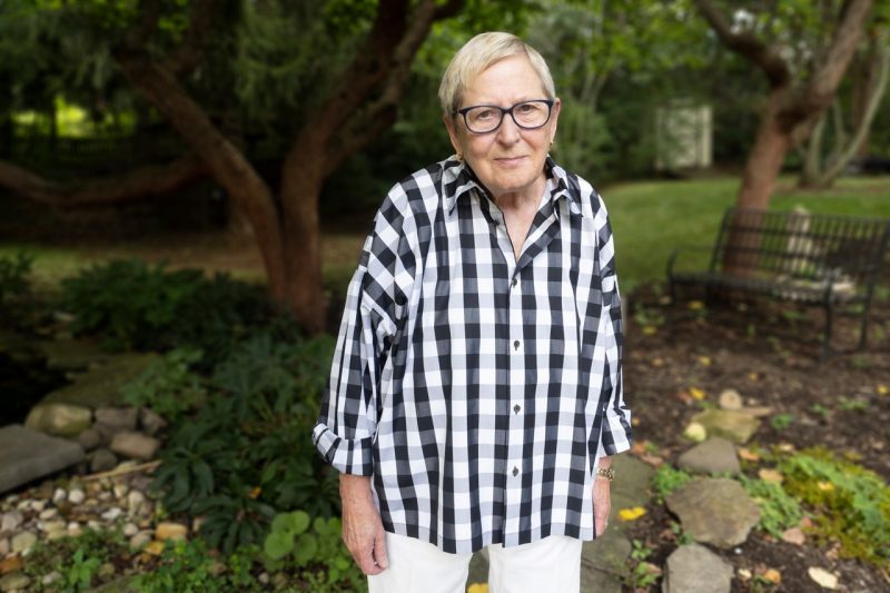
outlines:
[[[890, 394], [880, 393], [890, 387], [890, 300], [886, 296], [872, 308], [869, 347], [852, 352], [858, 320], [841, 318], [834, 345], [842, 352], [824, 362], [819, 359], [823, 324], [819, 309], [767, 302], [699, 308], [701, 303], [665, 300], [652, 287], [629, 298], [624, 385], [637, 443], [652, 443], [657, 456], [675, 464], [691, 446], [683, 431], [701, 409], [690, 397], [690, 388], [702, 389], [705, 401], [714, 404], [722, 391], [732, 388], [746, 406], [769, 406], [771, 416], [784, 415], [788, 422], [773, 426], [769, 416], [763, 418], [752, 446], [824, 446], [890, 478]], [[626, 527], [632, 538], [653, 548], [647, 561], [663, 566], [678, 546], [673, 522], [676, 517], [663, 505], [651, 503], [647, 514]], [[743, 545], [714, 551], [736, 569], [733, 592], [819, 591], [807, 573], [811, 566], [837, 573], [839, 591], [890, 590], [879, 570], [838, 559], [833, 546], [817, 547], [809, 540], [799, 546], [755, 530]], [[739, 569], [753, 575], [775, 569], [781, 584], [743, 581]], [[661, 591], [660, 582], [651, 591]]]

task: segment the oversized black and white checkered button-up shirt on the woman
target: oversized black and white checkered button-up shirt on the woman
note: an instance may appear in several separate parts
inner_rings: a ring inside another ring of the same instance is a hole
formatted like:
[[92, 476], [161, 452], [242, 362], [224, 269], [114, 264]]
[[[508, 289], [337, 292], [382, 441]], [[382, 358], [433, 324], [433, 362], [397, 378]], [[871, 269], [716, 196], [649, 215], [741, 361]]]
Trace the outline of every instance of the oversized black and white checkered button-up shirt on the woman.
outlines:
[[349, 285], [316, 446], [445, 552], [593, 538], [596, 462], [630, 447], [606, 210], [546, 167], [518, 260], [453, 157], [389, 191]]

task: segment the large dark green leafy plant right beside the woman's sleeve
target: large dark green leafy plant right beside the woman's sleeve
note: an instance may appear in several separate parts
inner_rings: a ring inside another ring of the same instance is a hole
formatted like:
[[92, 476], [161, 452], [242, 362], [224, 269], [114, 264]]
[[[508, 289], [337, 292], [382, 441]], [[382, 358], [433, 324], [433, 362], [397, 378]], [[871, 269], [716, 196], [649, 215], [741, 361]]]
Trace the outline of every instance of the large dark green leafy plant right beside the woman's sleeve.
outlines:
[[336, 513], [335, 472], [309, 438], [333, 348], [329, 336], [248, 339], [217, 367], [207, 404], [171, 428], [155, 487], [170, 512], [206, 516], [210, 545], [259, 542], [276, 510]]

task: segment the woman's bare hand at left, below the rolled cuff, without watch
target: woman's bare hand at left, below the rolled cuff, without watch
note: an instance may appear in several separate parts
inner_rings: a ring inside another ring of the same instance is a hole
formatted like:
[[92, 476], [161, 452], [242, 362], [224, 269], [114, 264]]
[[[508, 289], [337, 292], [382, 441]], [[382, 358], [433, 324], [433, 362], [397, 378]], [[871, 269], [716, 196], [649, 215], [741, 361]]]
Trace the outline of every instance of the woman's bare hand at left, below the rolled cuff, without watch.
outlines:
[[380, 574], [386, 559], [386, 532], [370, 495], [370, 478], [340, 474], [343, 541], [365, 574]]

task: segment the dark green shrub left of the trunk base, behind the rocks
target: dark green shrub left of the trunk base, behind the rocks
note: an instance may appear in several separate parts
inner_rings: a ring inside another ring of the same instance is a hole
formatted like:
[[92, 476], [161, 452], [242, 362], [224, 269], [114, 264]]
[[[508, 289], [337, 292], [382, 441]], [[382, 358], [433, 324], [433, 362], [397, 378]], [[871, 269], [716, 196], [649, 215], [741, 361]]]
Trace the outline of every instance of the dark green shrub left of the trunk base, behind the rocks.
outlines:
[[75, 332], [98, 334], [112, 350], [198, 349], [204, 369], [251, 333], [296, 332], [261, 287], [225, 274], [208, 278], [198, 269], [116, 260], [65, 278], [61, 286], [61, 305], [75, 315]]

